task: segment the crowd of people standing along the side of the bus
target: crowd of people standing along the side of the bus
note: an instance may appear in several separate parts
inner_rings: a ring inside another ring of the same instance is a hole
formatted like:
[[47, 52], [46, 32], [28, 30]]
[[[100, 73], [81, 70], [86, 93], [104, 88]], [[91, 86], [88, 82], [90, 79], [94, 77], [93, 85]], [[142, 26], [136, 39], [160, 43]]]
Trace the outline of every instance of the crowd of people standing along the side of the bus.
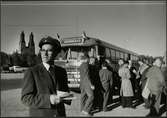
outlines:
[[119, 59], [117, 72], [108, 59], [98, 60], [88, 55], [81, 58], [84, 60], [80, 66], [82, 114], [92, 116], [96, 109], [104, 112], [111, 110], [107, 105], [113, 101], [117, 84], [122, 108], [135, 109], [133, 100], [137, 99], [138, 104], [144, 102], [144, 107], [150, 109], [147, 116], [160, 115], [161, 96], [167, 95], [166, 72], [161, 68], [161, 58], [156, 58], [152, 64], [139, 59], [138, 68], [132, 60]]

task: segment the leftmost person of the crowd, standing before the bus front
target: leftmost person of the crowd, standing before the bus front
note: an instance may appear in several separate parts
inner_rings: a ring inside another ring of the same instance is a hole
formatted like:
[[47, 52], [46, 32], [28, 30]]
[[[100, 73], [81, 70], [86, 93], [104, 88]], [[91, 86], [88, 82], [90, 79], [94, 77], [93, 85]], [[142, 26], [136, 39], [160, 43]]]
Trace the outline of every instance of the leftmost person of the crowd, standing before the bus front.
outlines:
[[83, 60], [80, 65], [81, 112], [91, 116], [95, 86], [90, 78], [89, 56], [85, 54], [81, 59]]

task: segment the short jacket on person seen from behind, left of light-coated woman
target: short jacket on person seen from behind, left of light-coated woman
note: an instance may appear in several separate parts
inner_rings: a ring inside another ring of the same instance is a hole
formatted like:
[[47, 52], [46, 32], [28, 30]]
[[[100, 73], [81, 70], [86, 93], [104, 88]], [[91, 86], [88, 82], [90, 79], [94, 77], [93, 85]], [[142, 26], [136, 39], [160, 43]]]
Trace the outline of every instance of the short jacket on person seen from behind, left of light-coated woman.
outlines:
[[101, 69], [99, 72], [100, 81], [102, 83], [103, 89], [108, 91], [110, 86], [113, 85], [112, 72], [108, 69]]

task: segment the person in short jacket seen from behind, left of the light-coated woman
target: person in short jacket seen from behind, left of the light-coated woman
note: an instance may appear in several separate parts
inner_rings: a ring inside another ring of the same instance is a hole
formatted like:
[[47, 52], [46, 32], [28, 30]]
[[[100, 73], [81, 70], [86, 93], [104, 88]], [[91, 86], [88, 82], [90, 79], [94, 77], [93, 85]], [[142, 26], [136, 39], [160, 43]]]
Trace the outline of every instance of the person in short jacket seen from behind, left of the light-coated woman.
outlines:
[[103, 111], [107, 111], [110, 88], [113, 84], [112, 72], [107, 69], [107, 62], [102, 62], [102, 69], [99, 72], [100, 81], [102, 83], [103, 92]]

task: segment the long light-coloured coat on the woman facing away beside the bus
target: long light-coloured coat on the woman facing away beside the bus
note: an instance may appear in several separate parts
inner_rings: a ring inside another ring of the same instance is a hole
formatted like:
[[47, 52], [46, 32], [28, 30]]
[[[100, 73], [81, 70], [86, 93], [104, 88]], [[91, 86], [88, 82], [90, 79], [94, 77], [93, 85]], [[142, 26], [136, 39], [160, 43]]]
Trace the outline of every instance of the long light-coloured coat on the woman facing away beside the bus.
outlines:
[[130, 79], [130, 71], [128, 67], [125, 65], [121, 66], [119, 71], [119, 76], [121, 77], [121, 89], [120, 89], [120, 94], [121, 96], [125, 97], [132, 97], [134, 95], [133, 89], [132, 89], [132, 84]]

